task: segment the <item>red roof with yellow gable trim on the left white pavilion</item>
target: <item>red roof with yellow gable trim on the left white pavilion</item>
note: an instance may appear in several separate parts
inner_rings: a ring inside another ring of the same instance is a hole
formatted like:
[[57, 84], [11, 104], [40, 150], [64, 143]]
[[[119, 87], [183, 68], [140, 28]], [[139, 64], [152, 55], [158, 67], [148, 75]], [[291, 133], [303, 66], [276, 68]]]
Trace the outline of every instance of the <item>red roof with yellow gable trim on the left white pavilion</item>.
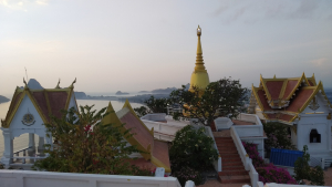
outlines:
[[75, 81], [71, 84], [71, 86], [66, 89], [32, 90], [29, 89], [27, 83], [24, 89], [20, 89], [18, 86], [12, 96], [6, 118], [3, 121], [1, 120], [2, 127], [8, 128], [10, 126], [14, 114], [17, 113], [21, 102], [25, 96], [28, 96], [31, 100], [43, 123], [49, 123], [50, 115], [60, 118], [62, 115], [61, 110], [68, 110], [71, 97], [72, 95], [74, 96], [74, 83]]

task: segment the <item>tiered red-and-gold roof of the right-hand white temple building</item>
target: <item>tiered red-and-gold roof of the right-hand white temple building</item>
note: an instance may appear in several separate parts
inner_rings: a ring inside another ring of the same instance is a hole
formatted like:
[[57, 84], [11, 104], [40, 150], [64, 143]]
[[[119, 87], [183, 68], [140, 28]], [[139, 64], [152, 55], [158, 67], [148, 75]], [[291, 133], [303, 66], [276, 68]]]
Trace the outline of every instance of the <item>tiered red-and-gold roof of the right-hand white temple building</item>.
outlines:
[[317, 84], [314, 75], [305, 77], [263, 79], [260, 76], [259, 87], [252, 85], [252, 95], [267, 120], [278, 120], [287, 123], [298, 118], [313, 97], [321, 93], [332, 107], [322, 82]]

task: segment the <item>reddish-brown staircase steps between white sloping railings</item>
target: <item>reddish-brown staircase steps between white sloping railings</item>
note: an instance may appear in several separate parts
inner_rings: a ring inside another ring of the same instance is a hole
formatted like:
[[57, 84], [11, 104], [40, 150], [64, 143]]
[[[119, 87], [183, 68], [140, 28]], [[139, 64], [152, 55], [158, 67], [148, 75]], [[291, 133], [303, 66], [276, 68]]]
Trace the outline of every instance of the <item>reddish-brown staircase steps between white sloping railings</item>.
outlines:
[[222, 172], [219, 172], [221, 184], [248, 184], [249, 173], [245, 169], [241, 158], [231, 137], [215, 137], [221, 156]]

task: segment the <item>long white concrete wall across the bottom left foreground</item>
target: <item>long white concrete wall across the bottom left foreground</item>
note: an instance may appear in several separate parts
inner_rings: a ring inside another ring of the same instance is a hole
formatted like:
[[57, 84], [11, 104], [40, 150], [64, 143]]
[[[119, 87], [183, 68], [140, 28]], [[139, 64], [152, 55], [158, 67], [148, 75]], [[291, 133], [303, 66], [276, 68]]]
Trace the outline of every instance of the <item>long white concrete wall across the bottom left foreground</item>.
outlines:
[[180, 187], [174, 177], [139, 177], [122, 175], [72, 174], [32, 170], [0, 170], [0, 187], [103, 187], [103, 186], [155, 186]]

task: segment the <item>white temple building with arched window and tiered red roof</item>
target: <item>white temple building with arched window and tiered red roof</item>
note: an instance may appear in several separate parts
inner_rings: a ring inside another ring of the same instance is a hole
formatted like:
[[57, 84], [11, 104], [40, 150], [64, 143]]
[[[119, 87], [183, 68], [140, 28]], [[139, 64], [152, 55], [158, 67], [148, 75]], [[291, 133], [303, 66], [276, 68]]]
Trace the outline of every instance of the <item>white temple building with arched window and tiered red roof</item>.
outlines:
[[332, 157], [332, 105], [323, 83], [307, 77], [263, 79], [252, 85], [249, 113], [267, 122], [290, 125], [292, 144], [299, 150], [307, 145], [312, 157]]

